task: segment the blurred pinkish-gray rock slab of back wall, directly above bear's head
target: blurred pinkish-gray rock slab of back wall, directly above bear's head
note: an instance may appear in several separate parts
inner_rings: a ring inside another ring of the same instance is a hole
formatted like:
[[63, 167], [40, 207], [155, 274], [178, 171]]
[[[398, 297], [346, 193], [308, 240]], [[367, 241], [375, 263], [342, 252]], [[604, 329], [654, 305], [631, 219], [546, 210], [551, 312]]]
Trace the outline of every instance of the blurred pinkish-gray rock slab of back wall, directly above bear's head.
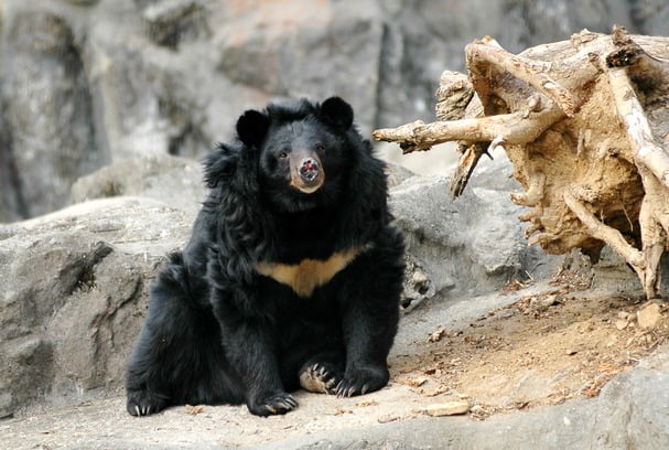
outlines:
[[218, 68], [229, 79], [280, 97], [339, 95], [370, 131], [382, 38], [376, 1], [230, 4], [223, 13]]

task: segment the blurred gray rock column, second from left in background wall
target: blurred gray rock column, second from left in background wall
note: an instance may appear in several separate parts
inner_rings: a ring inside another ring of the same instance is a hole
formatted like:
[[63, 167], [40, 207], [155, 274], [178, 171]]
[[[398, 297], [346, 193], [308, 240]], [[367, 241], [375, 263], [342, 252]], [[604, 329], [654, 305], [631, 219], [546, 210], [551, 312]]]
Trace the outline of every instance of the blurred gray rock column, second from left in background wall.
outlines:
[[[172, 96], [164, 77], [148, 57], [152, 47], [142, 20], [127, 0], [102, 2], [89, 10], [84, 64], [90, 78], [98, 144], [111, 161], [169, 152], [179, 135], [169, 120]], [[125, 39], [117, 39], [123, 35]]]

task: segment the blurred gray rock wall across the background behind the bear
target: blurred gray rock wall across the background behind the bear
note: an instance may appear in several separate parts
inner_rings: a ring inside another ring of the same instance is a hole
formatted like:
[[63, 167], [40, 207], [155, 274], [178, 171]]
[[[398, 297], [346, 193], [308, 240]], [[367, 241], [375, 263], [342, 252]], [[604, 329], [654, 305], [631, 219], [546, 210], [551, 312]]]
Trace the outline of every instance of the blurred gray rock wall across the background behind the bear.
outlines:
[[430, 120], [473, 39], [519, 52], [612, 23], [661, 34], [668, 13], [662, 0], [3, 0], [0, 221], [64, 206], [111, 161], [197, 158], [276, 97], [343, 96], [367, 135]]

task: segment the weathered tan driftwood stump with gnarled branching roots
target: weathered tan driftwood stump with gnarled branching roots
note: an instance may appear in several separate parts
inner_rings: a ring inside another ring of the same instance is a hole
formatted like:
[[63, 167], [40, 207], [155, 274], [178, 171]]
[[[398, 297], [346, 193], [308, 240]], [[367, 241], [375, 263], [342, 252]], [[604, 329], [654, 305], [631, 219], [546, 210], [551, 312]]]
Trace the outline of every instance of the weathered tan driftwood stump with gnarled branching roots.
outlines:
[[486, 38], [465, 49], [468, 76], [444, 72], [440, 121], [374, 132], [404, 152], [456, 141], [451, 192], [501, 146], [529, 206], [526, 235], [551, 254], [609, 245], [659, 298], [669, 245], [669, 39], [584, 30], [512, 55]]

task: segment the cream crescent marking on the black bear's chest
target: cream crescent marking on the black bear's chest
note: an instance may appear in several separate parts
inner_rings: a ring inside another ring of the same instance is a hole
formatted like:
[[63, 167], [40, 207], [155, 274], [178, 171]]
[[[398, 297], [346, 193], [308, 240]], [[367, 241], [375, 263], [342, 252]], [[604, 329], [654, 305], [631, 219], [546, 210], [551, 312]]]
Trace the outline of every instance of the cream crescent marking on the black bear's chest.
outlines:
[[258, 274], [270, 277], [280, 283], [287, 285], [300, 297], [311, 297], [319, 286], [325, 285], [343, 270], [356, 256], [369, 246], [349, 248], [336, 251], [325, 260], [305, 258], [300, 264], [258, 262]]

